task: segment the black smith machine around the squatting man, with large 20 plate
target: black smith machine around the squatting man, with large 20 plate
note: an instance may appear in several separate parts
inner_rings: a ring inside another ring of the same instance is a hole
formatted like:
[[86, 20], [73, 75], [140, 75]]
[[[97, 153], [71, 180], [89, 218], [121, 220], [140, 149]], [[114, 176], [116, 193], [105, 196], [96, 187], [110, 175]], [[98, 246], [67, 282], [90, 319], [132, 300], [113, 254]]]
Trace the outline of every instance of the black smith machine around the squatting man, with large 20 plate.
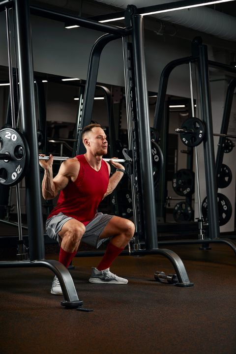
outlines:
[[[132, 193], [136, 226], [134, 249], [130, 252], [135, 255], [159, 254], [167, 257], [173, 264], [177, 274], [177, 279], [175, 279], [173, 283], [180, 287], [192, 286], [193, 283], [189, 281], [185, 267], [177, 254], [168, 249], [158, 248], [142, 16], [135, 15], [130, 9], [128, 9], [127, 17], [129, 20], [126, 20], [128, 21], [128, 28], [120, 29], [115, 26], [104, 25], [93, 20], [79, 18], [61, 12], [45, 10], [36, 6], [29, 6], [29, 0], [0, 1], [0, 11], [6, 11], [6, 18], [8, 16], [9, 8], [13, 8], [16, 22], [17, 59], [19, 66], [18, 70], [23, 134], [16, 130], [14, 126], [10, 131], [3, 129], [3, 132], [1, 133], [0, 152], [2, 155], [0, 159], [0, 168], [5, 171], [5, 177], [1, 178], [1, 183], [4, 185], [4, 181], [7, 180], [8, 169], [10, 169], [11, 164], [16, 161], [19, 162], [16, 165], [15, 171], [11, 173], [11, 185], [17, 184], [21, 178], [25, 177], [26, 205], [28, 211], [27, 218], [29, 228], [29, 260], [26, 259], [25, 248], [24, 245], [22, 245], [22, 239], [20, 239], [19, 243], [22, 247], [21, 252], [18, 253], [18, 261], [0, 262], [0, 267], [48, 267], [57, 275], [59, 279], [64, 295], [64, 301], [61, 302], [61, 305], [67, 308], [77, 308], [83, 310], [83, 301], [78, 298], [69, 271], [57, 261], [44, 259], [43, 221], [33, 89], [34, 78], [29, 21], [31, 11], [32, 14], [37, 16], [76, 24], [107, 33], [97, 40], [90, 55], [83, 115], [81, 117], [81, 126], [78, 126], [78, 129], [81, 129], [81, 127], [89, 124], [91, 120], [91, 109], [101, 51], [111, 40], [122, 38], [126, 100], [129, 110], [128, 152], [132, 155], [132, 157], [129, 155], [126, 157], [128, 160], [133, 160], [133, 164], [131, 165], [133, 166], [133, 173], [131, 174], [133, 177], [131, 178], [134, 189]], [[9, 37], [9, 28], [7, 31]], [[127, 35], [131, 35], [132, 44], [128, 43]], [[8, 48], [10, 48], [9, 41]], [[11, 81], [11, 102], [13, 104], [11, 74], [12, 64], [10, 55], [9, 71]], [[14, 118], [13, 115], [12, 117]], [[80, 129], [79, 132], [81, 131]], [[80, 138], [80, 134], [78, 134], [78, 138]], [[4, 146], [6, 146], [7, 149], [5, 149]], [[80, 144], [78, 146], [77, 153], [78, 152], [82, 152]], [[20, 161], [23, 160], [25, 161], [25, 165], [21, 165]], [[37, 206], [37, 208], [35, 208], [35, 206]], [[20, 209], [18, 208], [19, 220], [20, 216]], [[139, 242], [137, 237], [140, 235], [146, 239], [146, 250], [140, 250], [138, 247]], [[96, 253], [96, 255], [97, 254], [98, 253]]]

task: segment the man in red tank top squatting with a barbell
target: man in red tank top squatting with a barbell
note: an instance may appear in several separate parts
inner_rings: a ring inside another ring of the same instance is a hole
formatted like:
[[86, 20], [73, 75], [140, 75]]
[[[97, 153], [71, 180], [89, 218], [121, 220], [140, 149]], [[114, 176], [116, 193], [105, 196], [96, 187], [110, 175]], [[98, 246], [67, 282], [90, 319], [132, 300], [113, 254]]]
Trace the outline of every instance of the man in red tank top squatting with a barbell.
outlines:
[[[121, 164], [110, 160], [117, 170], [109, 178], [110, 165], [102, 160], [107, 154], [108, 143], [100, 124], [84, 127], [82, 140], [87, 152], [64, 161], [54, 178], [53, 156], [50, 155], [49, 160], [39, 160], [45, 170], [42, 181], [44, 199], [53, 199], [60, 192], [58, 204], [48, 216], [46, 232], [59, 242], [59, 262], [66, 267], [75, 256], [81, 239], [96, 248], [110, 239], [101, 262], [92, 268], [89, 282], [127, 284], [128, 280], [113, 274], [110, 266], [133, 237], [134, 224], [118, 216], [97, 213], [99, 203], [113, 192], [125, 170]], [[56, 276], [51, 294], [62, 295]]]

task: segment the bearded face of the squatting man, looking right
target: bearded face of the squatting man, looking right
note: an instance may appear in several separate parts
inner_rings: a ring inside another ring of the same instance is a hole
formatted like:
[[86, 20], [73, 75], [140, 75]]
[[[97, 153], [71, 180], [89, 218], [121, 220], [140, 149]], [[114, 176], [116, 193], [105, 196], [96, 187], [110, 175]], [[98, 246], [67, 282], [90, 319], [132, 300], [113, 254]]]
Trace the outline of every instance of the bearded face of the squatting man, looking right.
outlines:
[[84, 137], [84, 143], [87, 149], [95, 155], [102, 156], [107, 154], [107, 136], [102, 128], [95, 127]]

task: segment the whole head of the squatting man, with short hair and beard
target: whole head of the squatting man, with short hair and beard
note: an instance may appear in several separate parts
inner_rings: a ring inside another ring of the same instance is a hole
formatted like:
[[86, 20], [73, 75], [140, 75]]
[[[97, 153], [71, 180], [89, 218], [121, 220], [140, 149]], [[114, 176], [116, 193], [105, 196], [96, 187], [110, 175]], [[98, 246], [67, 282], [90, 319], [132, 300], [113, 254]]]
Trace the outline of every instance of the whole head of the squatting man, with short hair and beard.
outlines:
[[85, 126], [82, 130], [81, 138], [87, 151], [98, 156], [107, 154], [107, 137], [100, 124]]

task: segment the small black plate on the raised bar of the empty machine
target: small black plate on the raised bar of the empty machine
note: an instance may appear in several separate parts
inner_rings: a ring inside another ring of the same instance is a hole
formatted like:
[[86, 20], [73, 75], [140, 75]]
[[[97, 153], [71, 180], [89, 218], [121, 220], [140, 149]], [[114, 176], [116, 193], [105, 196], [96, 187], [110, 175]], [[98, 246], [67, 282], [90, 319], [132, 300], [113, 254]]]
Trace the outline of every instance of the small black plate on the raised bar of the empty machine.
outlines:
[[186, 133], [180, 133], [180, 139], [184, 145], [195, 147], [202, 143], [205, 135], [205, 126], [199, 118], [188, 118], [181, 125], [181, 129], [187, 130]]

